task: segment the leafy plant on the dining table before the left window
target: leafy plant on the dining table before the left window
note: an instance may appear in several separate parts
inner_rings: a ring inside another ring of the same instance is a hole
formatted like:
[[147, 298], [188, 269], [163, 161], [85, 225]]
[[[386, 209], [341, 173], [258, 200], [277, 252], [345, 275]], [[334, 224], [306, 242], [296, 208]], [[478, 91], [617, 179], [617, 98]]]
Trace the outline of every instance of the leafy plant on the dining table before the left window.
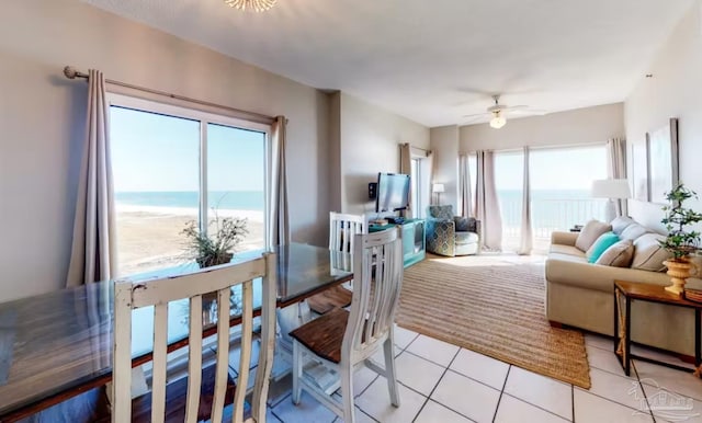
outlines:
[[[215, 266], [229, 263], [236, 247], [249, 233], [247, 219], [238, 217], [215, 218], [210, 221], [207, 229], [201, 231], [195, 220], [185, 224], [182, 233], [186, 238], [185, 250], [189, 260], [195, 260], [200, 267]], [[212, 235], [210, 235], [212, 233]]]

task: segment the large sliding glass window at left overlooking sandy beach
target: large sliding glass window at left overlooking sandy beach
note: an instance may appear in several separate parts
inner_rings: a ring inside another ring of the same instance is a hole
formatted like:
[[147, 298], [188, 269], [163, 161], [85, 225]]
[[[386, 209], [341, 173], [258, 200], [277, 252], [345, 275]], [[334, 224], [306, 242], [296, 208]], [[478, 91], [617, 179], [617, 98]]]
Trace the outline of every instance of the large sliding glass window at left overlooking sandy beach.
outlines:
[[268, 127], [111, 94], [117, 274], [189, 261], [182, 230], [247, 219], [239, 251], [265, 245]]

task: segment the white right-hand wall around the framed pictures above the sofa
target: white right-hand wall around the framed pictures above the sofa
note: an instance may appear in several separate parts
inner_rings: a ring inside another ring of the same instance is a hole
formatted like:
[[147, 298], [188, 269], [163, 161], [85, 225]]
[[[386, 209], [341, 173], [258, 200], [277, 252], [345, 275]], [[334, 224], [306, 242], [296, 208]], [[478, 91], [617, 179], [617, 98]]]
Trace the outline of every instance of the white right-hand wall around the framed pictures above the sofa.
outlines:
[[[679, 171], [684, 184], [702, 194], [702, 24], [700, 7], [679, 23], [648, 72], [625, 102], [626, 138], [645, 142], [647, 132], [679, 118]], [[630, 167], [631, 169], [631, 167]], [[630, 174], [631, 175], [631, 174]], [[687, 203], [686, 203], [687, 204]], [[702, 210], [701, 202], [690, 202]], [[663, 229], [660, 205], [630, 201], [635, 219]]]

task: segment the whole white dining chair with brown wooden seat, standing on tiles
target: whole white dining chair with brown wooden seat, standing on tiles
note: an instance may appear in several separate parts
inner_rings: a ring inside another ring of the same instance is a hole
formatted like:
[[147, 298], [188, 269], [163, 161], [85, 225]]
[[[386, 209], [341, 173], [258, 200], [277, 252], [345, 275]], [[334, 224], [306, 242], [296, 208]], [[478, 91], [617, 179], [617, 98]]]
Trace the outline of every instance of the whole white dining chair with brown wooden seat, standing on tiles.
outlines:
[[[356, 235], [353, 242], [351, 311], [336, 308], [291, 332], [293, 403], [299, 403], [304, 389], [347, 423], [354, 422], [352, 377], [361, 363], [387, 379], [390, 403], [399, 407], [393, 321], [403, 281], [400, 232], [389, 229]], [[384, 368], [369, 358], [381, 347]], [[328, 378], [320, 376], [315, 362], [340, 375], [336, 385], [320, 382]], [[341, 388], [341, 401], [332, 396], [337, 387]]]

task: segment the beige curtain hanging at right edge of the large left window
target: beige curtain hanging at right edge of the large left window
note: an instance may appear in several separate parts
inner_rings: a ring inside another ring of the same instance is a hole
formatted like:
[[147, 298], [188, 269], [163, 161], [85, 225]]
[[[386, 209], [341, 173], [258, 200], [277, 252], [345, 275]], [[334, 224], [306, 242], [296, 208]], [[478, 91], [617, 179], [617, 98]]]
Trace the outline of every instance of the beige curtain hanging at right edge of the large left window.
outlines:
[[272, 178], [270, 215], [268, 219], [269, 245], [290, 243], [290, 222], [287, 217], [287, 175], [285, 170], [285, 132], [287, 119], [276, 116], [271, 127]]

